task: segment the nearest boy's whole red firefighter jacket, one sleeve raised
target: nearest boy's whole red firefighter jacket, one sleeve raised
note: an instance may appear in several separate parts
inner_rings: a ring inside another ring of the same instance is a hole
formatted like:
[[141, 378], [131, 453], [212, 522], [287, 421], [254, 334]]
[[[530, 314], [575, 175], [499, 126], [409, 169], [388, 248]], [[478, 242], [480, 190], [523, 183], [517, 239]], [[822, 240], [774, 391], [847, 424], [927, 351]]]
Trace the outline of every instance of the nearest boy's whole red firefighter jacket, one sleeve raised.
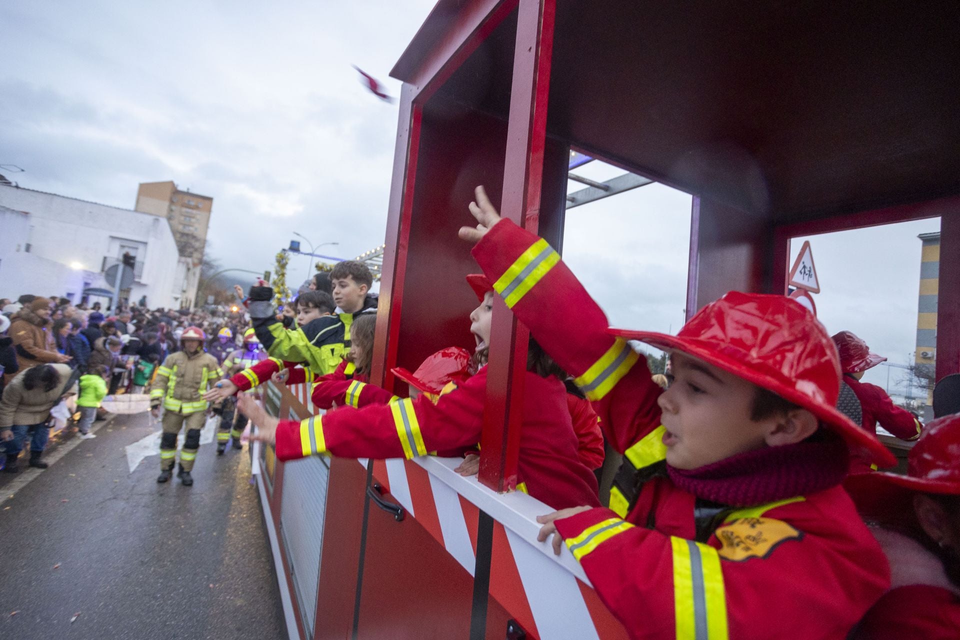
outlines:
[[637, 482], [648, 480], [619, 512], [556, 521], [631, 635], [844, 638], [890, 581], [847, 493], [836, 486], [754, 509], [698, 504], [656, 473], [666, 449], [646, 359], [606, 333], [603, 311], [557, 252], [503, 220], [473, 255], [537, 342], [576, 376], [605, 435], [640, 471]]

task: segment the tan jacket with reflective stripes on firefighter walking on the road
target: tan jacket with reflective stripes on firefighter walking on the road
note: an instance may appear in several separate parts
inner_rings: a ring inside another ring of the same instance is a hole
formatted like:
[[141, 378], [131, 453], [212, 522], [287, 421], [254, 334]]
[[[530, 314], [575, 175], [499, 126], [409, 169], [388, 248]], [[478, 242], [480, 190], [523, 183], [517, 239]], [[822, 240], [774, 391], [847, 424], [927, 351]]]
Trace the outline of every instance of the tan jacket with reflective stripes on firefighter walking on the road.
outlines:
[[156, 369], [150, 404], [180, 415], [206, 411], [204, 393], [224, 377], [217, 359], [204, 351], [171, 353]]

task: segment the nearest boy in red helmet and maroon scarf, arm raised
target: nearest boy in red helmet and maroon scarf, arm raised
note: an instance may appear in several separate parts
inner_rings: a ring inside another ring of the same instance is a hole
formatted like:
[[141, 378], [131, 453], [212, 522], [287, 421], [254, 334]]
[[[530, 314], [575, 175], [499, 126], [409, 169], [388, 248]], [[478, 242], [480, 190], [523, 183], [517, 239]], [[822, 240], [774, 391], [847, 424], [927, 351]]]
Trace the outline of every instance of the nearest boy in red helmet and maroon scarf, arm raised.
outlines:
[[[560, 255], [482, 187], [460, 236], [497, 294], [592, 401], [624, 454], [612, 509], [540, 516], [635, 638], [842, 639], [889, 586], [841, 482], [849, 449], [893, 456], [835, 409], [836, 349], [785, 296], [729, 293], [677, 336], [608, 329]], [[671, 354], [666, 391], [638, 340]]]

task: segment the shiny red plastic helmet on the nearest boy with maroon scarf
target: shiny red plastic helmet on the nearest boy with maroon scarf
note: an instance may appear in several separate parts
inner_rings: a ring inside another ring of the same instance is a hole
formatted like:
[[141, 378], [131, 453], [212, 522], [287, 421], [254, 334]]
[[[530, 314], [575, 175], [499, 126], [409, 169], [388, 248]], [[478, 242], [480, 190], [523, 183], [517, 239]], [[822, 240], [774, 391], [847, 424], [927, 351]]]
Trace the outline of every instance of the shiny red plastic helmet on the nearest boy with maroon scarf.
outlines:
[[824, 325], [796, 300], [732, 291], [698, 311], [676, 336], [608, 332], [729, 371], [816, 415], [861, 457], [880, 466], [897, 463], [874, 435], [837, 411], [841, 374], [836, 348]]

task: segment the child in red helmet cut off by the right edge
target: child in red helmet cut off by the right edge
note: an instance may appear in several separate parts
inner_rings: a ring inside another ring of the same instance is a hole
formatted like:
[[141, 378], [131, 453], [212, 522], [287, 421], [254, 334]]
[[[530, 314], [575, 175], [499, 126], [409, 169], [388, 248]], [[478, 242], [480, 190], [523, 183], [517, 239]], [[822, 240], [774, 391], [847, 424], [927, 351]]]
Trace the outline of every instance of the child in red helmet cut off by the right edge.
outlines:
[[845, 486], [893, 578], [852, 638], [960, 638], [960, 414], [926, 426], [907, 454], [905, 476], [860, 474]]

